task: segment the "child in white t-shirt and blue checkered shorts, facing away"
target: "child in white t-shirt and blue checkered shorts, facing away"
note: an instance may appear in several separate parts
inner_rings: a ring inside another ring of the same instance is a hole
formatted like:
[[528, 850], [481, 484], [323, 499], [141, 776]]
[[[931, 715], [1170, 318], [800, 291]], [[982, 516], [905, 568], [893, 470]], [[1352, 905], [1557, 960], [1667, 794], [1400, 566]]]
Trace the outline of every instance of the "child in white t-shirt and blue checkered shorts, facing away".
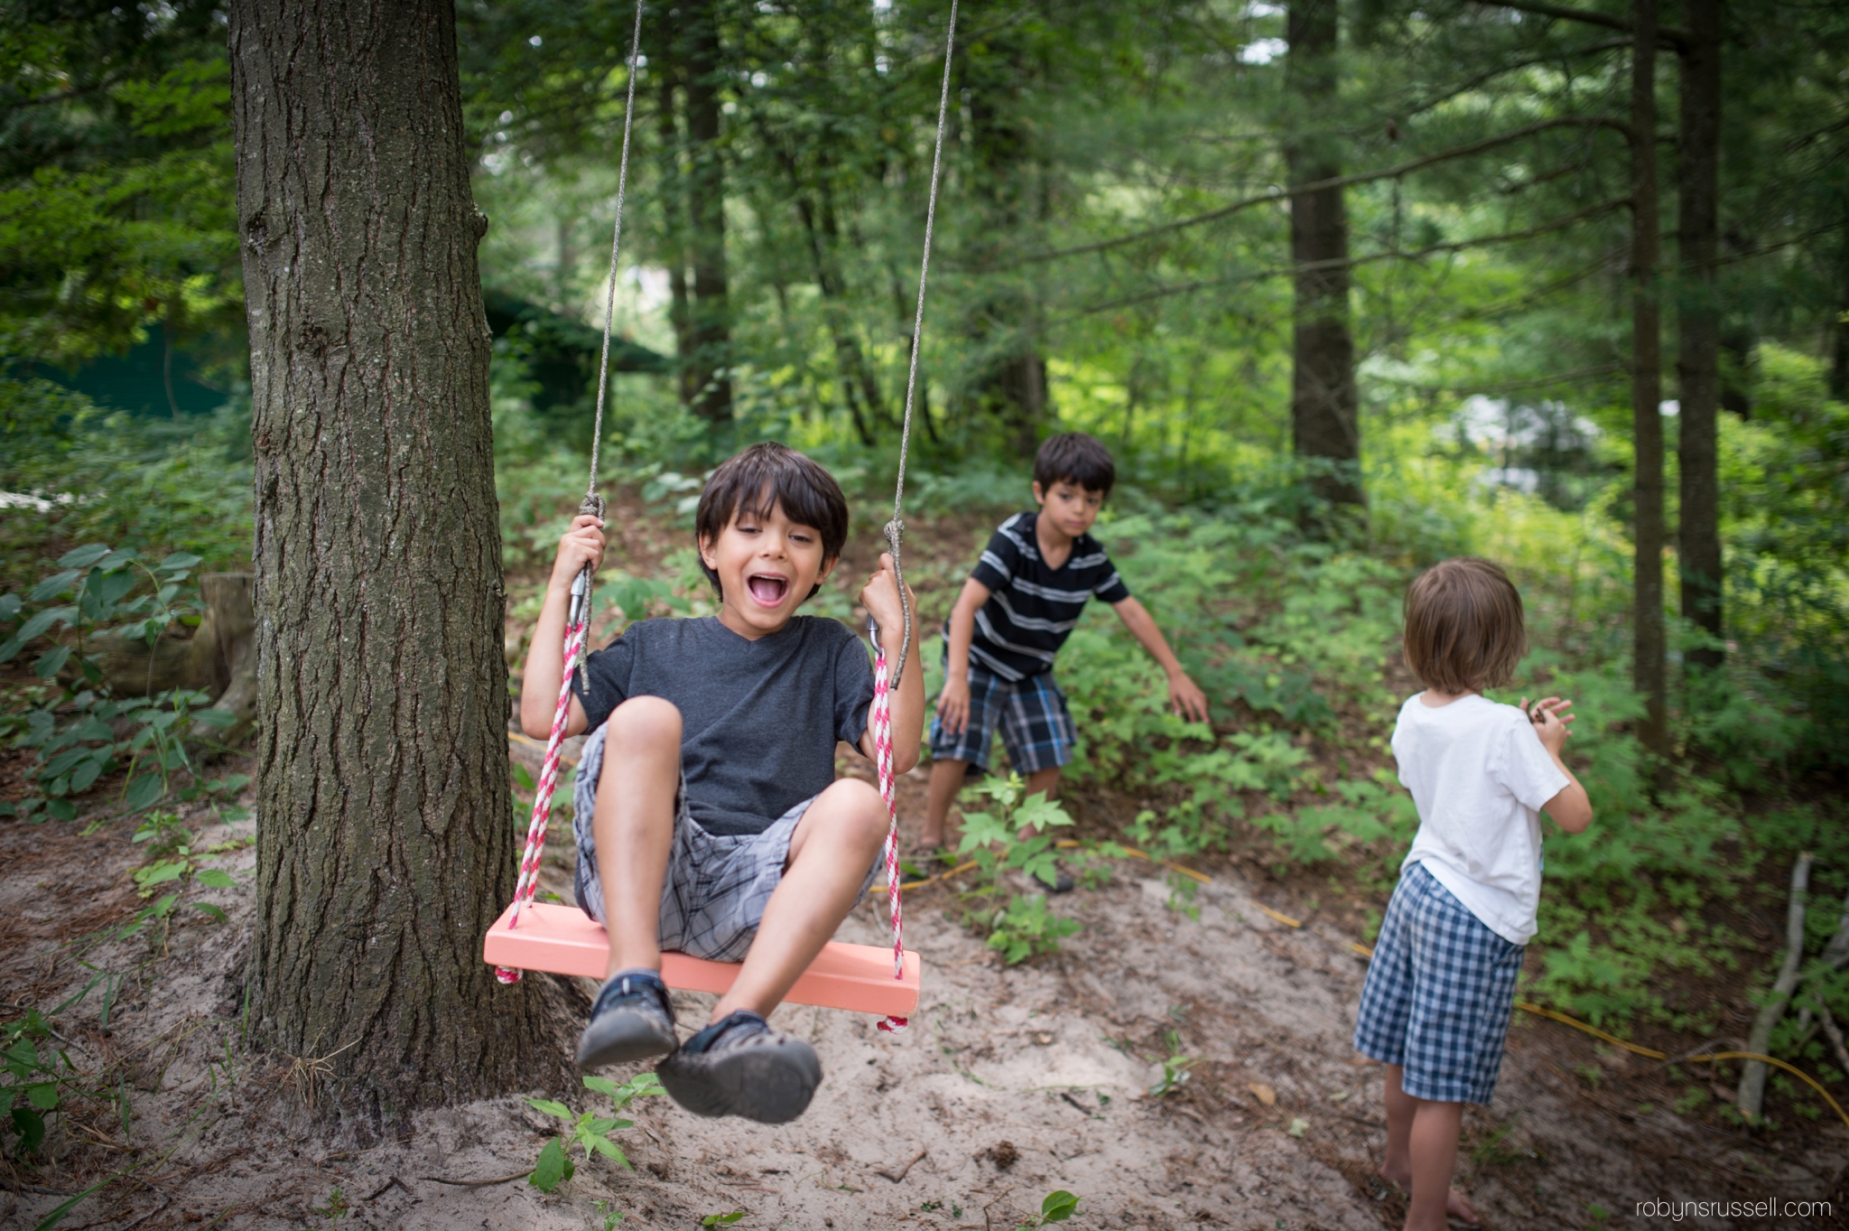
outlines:
[[1477, 1225], [1451, 1188], [1464, 1103], [1501, 1070], [1522, 956], [1540, 908], [1540, 813], [1568, 834], [1592, 802], [1561, 760], [1570, 701], [1488, 701], [1527, 652], [1522, 595], [1488, 560], [1442, 560], [1405, 595], [1405, 665], [1426, 684], [1400, 706], [1392, 754], [1418, 834], [1381, 919], [1355, 1050], [1387, 1065], [1381, 1176], [1409, 1194], [1407, 1231]]

